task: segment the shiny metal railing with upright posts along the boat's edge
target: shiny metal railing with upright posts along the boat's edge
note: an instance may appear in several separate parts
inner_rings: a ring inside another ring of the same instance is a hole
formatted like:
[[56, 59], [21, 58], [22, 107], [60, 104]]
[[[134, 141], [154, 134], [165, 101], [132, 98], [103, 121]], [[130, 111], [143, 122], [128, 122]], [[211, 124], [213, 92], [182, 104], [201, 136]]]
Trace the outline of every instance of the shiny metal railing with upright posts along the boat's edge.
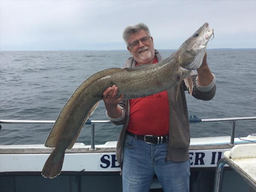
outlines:
[[[189, 123], [199, 123], [199, 122], [222, 122], [222, 121], [231, 121], [232, 130], [231, 130], [231, 139], [229, 145], [234, 145], [235, 140], [235, 128], [236, 121], [240, 120], [256, 120], [256, 117], [234, 117], [234, 118], [220, 118], [220, 119], [200, 119], [197, 116], [189, 116]], [[0, 124], [3, 123], [13, 123], [13, 124], [34, 124], [34, 123], [55, 123], [55, 120], [1, 120]], [[95, 124], [111, 124], [110, 120], [87, 120], [85, 125], [91, 125], [91, 147], [89, 150], [96, 150], [95, 147]], [[1, 125], [0, 125], [1, 129]]]

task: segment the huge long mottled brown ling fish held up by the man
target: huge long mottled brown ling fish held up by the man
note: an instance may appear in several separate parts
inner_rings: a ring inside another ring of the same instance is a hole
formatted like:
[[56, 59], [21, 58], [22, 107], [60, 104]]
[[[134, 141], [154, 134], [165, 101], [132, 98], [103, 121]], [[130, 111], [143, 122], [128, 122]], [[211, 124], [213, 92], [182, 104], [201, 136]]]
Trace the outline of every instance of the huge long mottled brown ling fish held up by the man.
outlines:
[[42, 175], [53, 178], [60, 174], [66, 149], [73, 147], [84, 123], [108, 87], [116, 85], [118, 95], [123, 94], [125, 99], [130, 99], [131, 95], [159, 93], [186, 78], [189, 90], [192, 90], [189, 74], [201, 66], [212, 34], [213, 29], [205, 23], [174, 54], [158, 64], [105, 69], [82, 82], [62, 108], [46, 139], [45, 146], [55, 149], [47, 159]]

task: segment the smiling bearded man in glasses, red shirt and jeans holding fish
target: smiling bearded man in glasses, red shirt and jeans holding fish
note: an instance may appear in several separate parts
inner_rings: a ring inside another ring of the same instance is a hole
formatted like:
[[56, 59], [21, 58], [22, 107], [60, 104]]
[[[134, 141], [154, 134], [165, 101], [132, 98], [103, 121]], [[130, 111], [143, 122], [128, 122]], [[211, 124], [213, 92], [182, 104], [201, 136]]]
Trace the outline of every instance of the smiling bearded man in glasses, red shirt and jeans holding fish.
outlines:
[[[139, 23], [123, 32], [127, 49], [133, 55], [124, 67], [155, 64], [163, 60], [154, 50], [148, 27]], [[216, 90], [215, 77], [206, 62], [206, 54], [198, 75], [192, 76], [192, 95], [210, 100]], [[180, 91], [176, 100], [177, 90]], [[169, 90], [146, 98], [122, 100], [116, 97], [116, 85], [103, 93], [107, 117], [116, 125], [123, 124], [116, 148], [122, 169], [124, 192], [149, 191], [154, 174], [165, 192], [189, 191], [189, 120], [181, 83]]]

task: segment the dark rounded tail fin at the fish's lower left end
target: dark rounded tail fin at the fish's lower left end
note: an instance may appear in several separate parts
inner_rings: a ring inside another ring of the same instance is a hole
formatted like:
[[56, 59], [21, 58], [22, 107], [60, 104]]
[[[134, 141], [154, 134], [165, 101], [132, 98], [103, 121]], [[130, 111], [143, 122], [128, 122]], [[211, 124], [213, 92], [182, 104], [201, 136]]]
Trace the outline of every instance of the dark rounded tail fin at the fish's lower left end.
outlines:
[[65, 151], [54, 149], [44, 164], [42, 175], [47, 178], [54, 178], [61, 173]]

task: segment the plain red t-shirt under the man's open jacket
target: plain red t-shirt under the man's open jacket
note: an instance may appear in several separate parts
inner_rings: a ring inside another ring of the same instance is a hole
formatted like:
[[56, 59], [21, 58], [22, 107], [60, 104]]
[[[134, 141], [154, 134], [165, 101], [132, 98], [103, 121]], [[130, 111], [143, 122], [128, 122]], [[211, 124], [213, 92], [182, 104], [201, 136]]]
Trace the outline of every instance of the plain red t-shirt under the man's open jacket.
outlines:
[[[155, 56], [153, 64], [157, 62]], [[168, 135], [169, 101], [167, 91], [145, 98], [130, 99], [130, 120], [126, 130], [137, 135]]]

